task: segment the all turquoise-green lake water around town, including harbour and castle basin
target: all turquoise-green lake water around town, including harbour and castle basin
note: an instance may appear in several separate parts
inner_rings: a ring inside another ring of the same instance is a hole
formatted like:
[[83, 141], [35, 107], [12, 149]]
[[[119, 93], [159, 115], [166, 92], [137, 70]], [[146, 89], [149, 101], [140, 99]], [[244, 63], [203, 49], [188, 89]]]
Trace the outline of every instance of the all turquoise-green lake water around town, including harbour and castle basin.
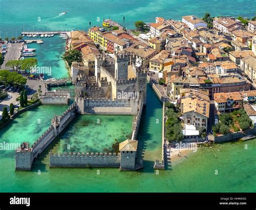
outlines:
[[[68, 13], [56, 17], [63, 11]], [[104, 17], [122, 23], [125, 16], [122, 24], [132, 28], [136, 20], [154, 22], [156, 16], [181, 19], [183, 15], [192, 14], [201, 17], [205, 12], [212, 16], [252, 17], [256, 15], [256, 1], [77, 0], [71, 3], [67, 0], [0, 0], [0, 37], [12, 37], [16, 32], [19, 35], [22, 30], [32, 29], [87, 30], [89, 22], [91, 26], [101, 25]], [[97, 22], [98, 17], [100, 22]], [[41, 22], [38, 22], [40, 18]], [[39, 66], [52, 67], [54, 78], [68, 75], [64, 62], [60, 60], [64, 43], [64, 39], [56, 36], [45, 38], [41, 46], [29, 45], [37, 48]], [[0, 130], [0, 142], [26, 141], [32, 144], [49, 127], [51, 118], [62, 114], [66, 108], [41, 106], [19, 115]], [[148, 86], [147, 106], [138, 135], [145, 165], [143, 170], [49, 169], [48, 152], [51, 149], [62, 151], [66, 142], [80, 141], [81, 149], [96, 151], [97, 145], [101, 150], [111, 146], [113, 139], [122, 141], [129, 135], [131, 116], [80, 116], [35, 160], [31, 172], [15, 172], [15, 152], [0, 151], [0, 192], [256, 192], [255, 140], [200, 148], [172, 170], [157, 174], [153, 164], [161, 157], [161, 111], [161, 103]], [[95, 125], [97, 117], [102, 118], [99, 126]], [[160, 123], [156, 123], [158, 121]], [[105, 132], [104, 126], [111, 132], [106, 129]], [[94, 136], [99, 136], [97, 141], [93, 141]]]

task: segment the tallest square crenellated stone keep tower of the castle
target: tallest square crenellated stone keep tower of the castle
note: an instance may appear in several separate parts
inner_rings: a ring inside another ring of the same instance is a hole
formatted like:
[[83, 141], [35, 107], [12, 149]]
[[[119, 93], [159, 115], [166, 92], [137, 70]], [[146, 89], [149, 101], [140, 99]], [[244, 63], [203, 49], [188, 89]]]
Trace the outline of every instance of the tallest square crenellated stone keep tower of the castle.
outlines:
[[114, 78], [116, 78], [116, 80], [128, 78], [129, 64], [129, 55], [114, 53]]

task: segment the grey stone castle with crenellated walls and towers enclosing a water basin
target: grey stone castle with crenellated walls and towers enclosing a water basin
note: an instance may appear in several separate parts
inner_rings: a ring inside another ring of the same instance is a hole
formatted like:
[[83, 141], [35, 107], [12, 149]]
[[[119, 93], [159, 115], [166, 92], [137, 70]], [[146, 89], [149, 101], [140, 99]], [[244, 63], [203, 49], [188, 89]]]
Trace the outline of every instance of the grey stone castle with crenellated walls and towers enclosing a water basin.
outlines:
[[[33, 160], [41, 155], [77, 114], [134, 115], [132, 137], [119, 144], [120, 153], [50, 152], [50, 167], [142, 169], [143, 160], [137, 152], [137, 134], [143, 106], [146, 105], [147, 74], [142, 67], [131, 63], [132, 56], [119, 53], [113, 54], [113, 58], [107, 54], [98, 55], [94, 76], [77, 74], [75, 102], [61, 116], [53, 117], [48, 130], [32, 146], [24, 142], [16, 150], [16, 170], [31, 170]], [[53, 101], [59, 104], [58, 100]], [[81, 138], [86, 139], [86, 136]]]

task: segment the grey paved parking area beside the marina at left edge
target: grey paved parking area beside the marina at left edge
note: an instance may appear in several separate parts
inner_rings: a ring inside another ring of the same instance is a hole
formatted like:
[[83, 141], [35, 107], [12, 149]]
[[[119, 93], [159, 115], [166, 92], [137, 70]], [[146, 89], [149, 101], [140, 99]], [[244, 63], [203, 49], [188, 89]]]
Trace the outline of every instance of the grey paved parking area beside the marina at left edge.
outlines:
[[11, 69], [9, 67], [5, 67], [5, 64], [9, 60], [18, 60], [19, 59], [22, 45], [23, 45], [23, 43], [9, 43], [7, 45], [7, 53], [4, 57], [4, 62], [3, 62], [1, 69], [8, 69], [8, 70]]

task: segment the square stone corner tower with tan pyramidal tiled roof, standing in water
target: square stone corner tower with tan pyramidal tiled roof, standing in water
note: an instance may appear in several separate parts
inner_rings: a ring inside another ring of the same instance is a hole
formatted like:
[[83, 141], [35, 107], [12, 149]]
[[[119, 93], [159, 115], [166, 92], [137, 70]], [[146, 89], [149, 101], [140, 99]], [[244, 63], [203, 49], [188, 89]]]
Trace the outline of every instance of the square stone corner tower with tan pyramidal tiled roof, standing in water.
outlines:
[[121, 153], [120, 170], [135, 170], [137, 147], [137, 140], [127, 139], [119, 144]]

